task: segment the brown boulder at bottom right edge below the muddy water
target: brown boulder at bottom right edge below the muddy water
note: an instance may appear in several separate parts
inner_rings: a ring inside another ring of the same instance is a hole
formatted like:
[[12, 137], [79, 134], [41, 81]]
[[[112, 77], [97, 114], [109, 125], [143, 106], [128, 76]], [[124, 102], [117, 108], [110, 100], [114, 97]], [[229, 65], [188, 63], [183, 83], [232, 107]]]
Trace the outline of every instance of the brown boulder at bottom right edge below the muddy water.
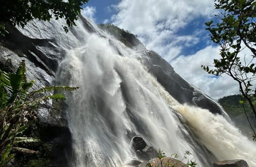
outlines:
[[214, 167], [249, 167], [247, 162], [242, 159], [225, 160], [214, 162]]

